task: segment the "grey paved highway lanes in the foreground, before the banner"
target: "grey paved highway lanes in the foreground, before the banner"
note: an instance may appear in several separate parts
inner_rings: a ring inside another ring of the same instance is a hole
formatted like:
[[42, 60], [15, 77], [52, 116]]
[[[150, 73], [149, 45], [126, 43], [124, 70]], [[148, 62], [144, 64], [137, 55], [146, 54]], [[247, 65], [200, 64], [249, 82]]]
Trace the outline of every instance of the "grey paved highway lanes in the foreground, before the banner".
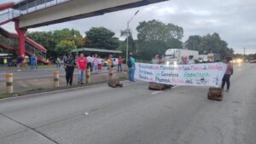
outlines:
[[207, 88], [107, 84], [0, 101], [1, 144], [255, 144], [256, 65], [236, 67], [224, 101]]

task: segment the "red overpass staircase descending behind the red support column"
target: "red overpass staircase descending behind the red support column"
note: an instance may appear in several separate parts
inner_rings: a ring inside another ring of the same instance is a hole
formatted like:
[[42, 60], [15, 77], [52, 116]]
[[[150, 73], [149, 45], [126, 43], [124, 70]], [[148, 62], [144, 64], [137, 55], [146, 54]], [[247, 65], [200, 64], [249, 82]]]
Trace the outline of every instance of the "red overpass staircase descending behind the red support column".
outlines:
[[[19, 36], [16, 33], [5, 31], [0, 27], [0, 48], [8, 51], [19, 51]], [[46, 60], [47, 49], [29, 37], [25, 40], [25, 53], [26, 55], [37, 55], [38, 60], [44, 64], [48, 64]]]

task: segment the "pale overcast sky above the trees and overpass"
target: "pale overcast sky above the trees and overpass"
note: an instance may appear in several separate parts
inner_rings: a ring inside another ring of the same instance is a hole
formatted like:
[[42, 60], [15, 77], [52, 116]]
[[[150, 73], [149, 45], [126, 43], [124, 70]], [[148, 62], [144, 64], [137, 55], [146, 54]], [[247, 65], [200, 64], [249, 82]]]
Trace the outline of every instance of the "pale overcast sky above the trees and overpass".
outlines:
[[[2, 2], [10, 1], [1, 0]], [[246, 48], [247, 54], [256, 53], [256, 0], [170, 0], [93, 18], [38, 27], [29, 31], [74, 28], [84, 35], [84, 32], [93, 26], [104, 26], [119, 37], [120, 30], [125, 29], [127, 20], [137, 9], [140, 9], [140, 12], [130, 25], [134, 37], [137, 36], [136, 27], [140, 21], [155, 19], [182, 26], [183, 42], [190, 35], [203, 36], [218, 32], [220, 37], [229, 43], [230, 48], [236, 49], [236, 53], [243, 53], [243, 48]], [[15, 32], [13, 24], [6, 24], [3, 27]]]

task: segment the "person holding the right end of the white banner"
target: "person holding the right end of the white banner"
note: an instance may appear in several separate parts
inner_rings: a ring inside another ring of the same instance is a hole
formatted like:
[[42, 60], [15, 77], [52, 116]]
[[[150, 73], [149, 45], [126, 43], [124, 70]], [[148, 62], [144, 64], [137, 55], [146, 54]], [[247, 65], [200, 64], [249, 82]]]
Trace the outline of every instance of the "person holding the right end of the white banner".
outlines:
[[232, 58], [226, 57], [225, 58], [225, 64], [227, 65], [227, 70], [224, 74], [224, 77], [222, 78], [222, 85], [221, 88], [224, 89], [225, 83], [227, 83], [227, 89], [226, 91], [230, 90], [230, 77], [233, 74], [233, 65], [230, 62]]

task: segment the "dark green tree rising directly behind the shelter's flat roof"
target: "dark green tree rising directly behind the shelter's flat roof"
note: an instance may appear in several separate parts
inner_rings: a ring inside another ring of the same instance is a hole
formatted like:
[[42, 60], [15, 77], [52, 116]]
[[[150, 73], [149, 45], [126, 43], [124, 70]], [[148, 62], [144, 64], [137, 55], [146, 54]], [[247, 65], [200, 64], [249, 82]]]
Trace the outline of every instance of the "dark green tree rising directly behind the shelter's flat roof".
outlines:
[[114, 32], [104, 27], [92, 27], [85, 32], [85, 46], [96, 49], [117, 49], [119, 39], [114, 37]]

